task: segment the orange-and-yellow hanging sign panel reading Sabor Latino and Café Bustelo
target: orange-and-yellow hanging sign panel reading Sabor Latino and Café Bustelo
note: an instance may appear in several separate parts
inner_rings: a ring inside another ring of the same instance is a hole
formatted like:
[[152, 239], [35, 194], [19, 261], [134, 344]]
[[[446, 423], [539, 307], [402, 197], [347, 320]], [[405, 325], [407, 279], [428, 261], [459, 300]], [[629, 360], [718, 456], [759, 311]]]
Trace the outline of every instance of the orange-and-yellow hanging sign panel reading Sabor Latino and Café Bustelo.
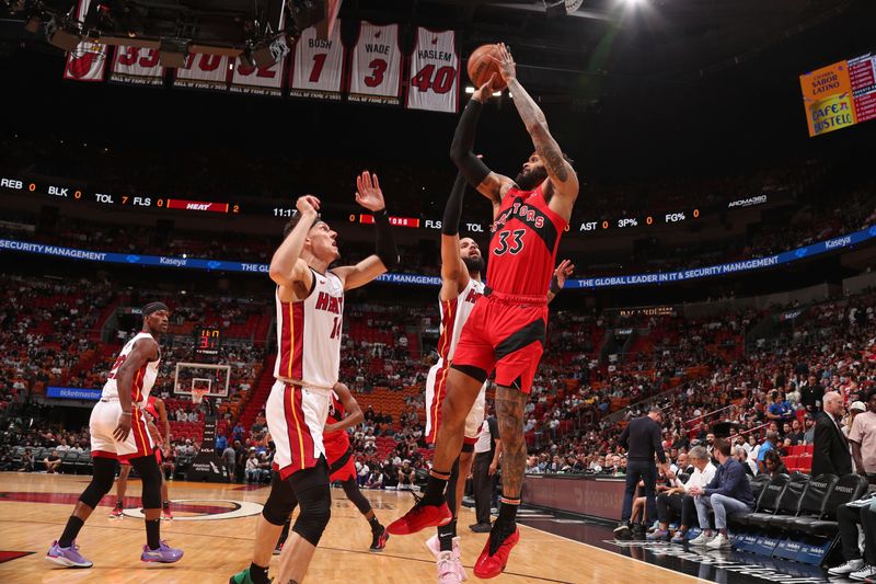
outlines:
[[809, 136], [820, 136], [855, 124], [852, 82], [845, 61], [800, 76]]

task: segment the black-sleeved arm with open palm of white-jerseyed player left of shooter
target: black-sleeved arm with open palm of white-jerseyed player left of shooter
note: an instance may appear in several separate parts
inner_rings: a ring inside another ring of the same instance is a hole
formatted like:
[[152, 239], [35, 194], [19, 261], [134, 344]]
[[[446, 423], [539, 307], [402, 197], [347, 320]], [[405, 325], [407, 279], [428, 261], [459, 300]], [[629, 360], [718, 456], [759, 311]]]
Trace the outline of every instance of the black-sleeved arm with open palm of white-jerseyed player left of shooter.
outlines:
[[383, 202], [383, 191], [377, 174], [368, 171], [356, 178], [356, 203], [370, 210], [374, 217], [376, 249], [356, 265], [347, 265], [333, 270], [335, 275], [344, 282], [344, 289], [349, 290], [365, 286], [379, 275], [399, 265], [399, 250], [395, 248], [395, 238], [390, 227], [390, 216], [387, 204]]

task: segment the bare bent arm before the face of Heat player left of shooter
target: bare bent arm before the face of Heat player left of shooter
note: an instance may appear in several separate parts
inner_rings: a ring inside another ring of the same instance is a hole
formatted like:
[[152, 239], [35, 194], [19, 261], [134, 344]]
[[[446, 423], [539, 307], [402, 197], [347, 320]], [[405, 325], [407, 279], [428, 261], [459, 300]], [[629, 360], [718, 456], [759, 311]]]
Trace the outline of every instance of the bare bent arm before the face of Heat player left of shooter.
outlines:
[[[304, 249], [308, 231], [316, 220], [320, 199], [313, 195], [304, 195], [298, 198], [295, 206], [299, 214], [296, 218], [298, 222], [274, 252], [268, 274], [280, 286], [281, 296], [303, 298], [313, 284], [313, 273], [301, 259], [301, 251]], [[289, 291], [284, 293], [283, 288]]]

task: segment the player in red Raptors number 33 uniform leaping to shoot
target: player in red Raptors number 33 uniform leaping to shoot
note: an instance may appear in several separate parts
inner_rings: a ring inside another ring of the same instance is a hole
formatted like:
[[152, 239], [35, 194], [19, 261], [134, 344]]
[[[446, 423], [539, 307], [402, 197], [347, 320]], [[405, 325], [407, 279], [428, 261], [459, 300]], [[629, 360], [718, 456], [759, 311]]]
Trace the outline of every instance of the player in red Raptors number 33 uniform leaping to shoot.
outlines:
[[503, 572], [520, 538], [516, 517], [526, 467], [523, 408], [544, 350], [548, 289], [557, 245], [578, 197], [578, 178], [551, 136], [541, 108], [517, 80], [510, 50], [502, 44], [498, 48], [502, 79], [514, 94], [535, 151], [515, 180], [491, 171], [472, 152], [477, 117], [492, 93], [494, 73], [462, 113], [450, 150], [460, 172], [493, 204], [489, 286], [462, 330], [450, 366], [425, 495], [388, 527], [392, 535], [404, 535], [452, 519], [445, 490], [462, 446], [465, 416], [495, 370], [503, 497], [499, 516], [474, 564], [474, 574], [482, 579]]

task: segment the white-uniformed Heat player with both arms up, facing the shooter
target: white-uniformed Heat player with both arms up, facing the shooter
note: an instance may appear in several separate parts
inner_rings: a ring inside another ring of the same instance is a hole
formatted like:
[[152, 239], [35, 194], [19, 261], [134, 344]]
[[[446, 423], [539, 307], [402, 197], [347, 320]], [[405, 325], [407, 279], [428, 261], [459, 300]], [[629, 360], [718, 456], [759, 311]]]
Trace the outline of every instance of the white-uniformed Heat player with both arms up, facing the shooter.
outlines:
[[267, 569], [286, 518], [300, 509], [280, 554], [279, 582], [302, 582], [328, 523], [332, 494], [323, 428], [338, 380], [344, 293], [377, 278], [399, 263], [383, 193], [377, 175], [356, 179], [356, 202], [374, 218], [377, 245], [356, 265], [328, 265], [339, 256], [332, 231], [318, 215], [320, 199], [298, 199], [298, 214], [284, 229], [269, 275], [277, 284], [277, 363], [265, 408], [277, 447], [274, 473], [256, 524], [253, 562], [231, 584], [267, 584]]

